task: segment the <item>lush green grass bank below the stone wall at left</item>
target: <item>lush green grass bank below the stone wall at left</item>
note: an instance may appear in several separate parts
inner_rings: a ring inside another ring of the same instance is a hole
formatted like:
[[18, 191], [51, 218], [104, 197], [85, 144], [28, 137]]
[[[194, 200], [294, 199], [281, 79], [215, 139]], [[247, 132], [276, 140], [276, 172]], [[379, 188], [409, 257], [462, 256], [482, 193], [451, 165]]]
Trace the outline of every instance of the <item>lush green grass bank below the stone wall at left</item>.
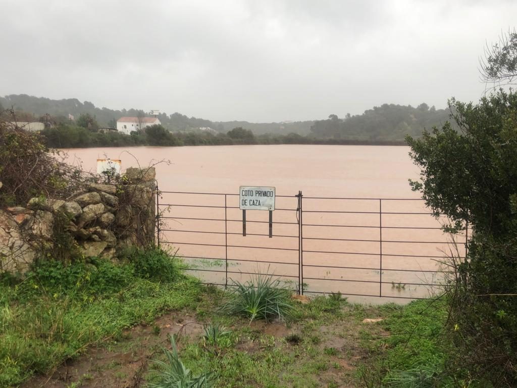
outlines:
[[[145, 255], [140, 255], [142, 262]], [[150, 324], [167, 310], [194, 304], [200, 294], [197, 281], [181, 276], [166, 253], [154, 250], [151, 255], [153, 263], [168, 263], [174, 276], [143, 278], [142, 270], [135, 270], [138, 265], [95, 259], [69, 266], [41, 262], [23, 281], [4, 278], [0, 386], [47, 374], [89, 346], [118, 339], [128, 327]]]

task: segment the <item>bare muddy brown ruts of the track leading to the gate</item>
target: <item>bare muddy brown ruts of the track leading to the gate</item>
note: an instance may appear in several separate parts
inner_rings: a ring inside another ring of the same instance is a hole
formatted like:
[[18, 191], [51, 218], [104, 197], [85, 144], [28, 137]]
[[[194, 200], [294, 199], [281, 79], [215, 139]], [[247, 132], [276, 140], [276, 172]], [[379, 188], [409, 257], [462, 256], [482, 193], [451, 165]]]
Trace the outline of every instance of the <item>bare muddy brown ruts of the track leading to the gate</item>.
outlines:
[[[362, 322], [365, 317], [376, 318], [375, 308], [358, 313], [352, 305], [345, 305], [340, 314], [342, 318], [328, 324], [321, 319], [303, 319], [287, 326], [263, 321], [251, 324], [245, 320], [238, 321], [230, 326], [232, 331], [240, 333], [234, 351], [259, 357], [256, 360], [260, 360], [271, 349], [277, 349], [288, 358], [296, 359], [295, 370], [290, 373], [298, 378], [298, 382], [281, 383], [281, 372], [278, 384], [284, 385], [275, 387], [303, 387], [307, 376], [313, 379], [312, 385], [307, 386], [361, 386], [357, 381], [357, 366], [369, 359], [370, 342], [389, 333], [376, 322]], [[203, 322], [195, 314], [170, 312], [158, 318], [153, 325], [135, 326], [124, 332], [118, 341], [107, 341], [102, 347], [90, 349], [77, 360], [58, 367], [50, 376], [35, 377], [21, 387], [144, 387], [146, 373], [153, 364], [151, 360], [162, 353], [163, 346], [169, 345], [169, 336], [178, 337], [181, 352], [186, 344], [199, 343], [203, 333]], [[311, 351], [312, 355], [309, 354]], [[300, 369], [299, 376], [296, 368]], [[263, 385], [251, 382], [247, 386]]]

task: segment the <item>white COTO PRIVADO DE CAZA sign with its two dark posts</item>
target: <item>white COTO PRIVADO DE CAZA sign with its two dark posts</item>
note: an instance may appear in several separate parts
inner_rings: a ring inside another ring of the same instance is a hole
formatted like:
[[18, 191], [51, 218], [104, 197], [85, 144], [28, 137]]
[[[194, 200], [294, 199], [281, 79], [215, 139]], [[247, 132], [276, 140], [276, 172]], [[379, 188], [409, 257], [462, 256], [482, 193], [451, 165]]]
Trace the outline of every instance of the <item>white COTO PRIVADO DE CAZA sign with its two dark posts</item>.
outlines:
[[275, 210], [275, 187], [240, 186], [239, 208], [242, 210], [242, 235], [246, 236], [246, 211], [269, 211], [269, 238], [273, 237], [273, 210]]

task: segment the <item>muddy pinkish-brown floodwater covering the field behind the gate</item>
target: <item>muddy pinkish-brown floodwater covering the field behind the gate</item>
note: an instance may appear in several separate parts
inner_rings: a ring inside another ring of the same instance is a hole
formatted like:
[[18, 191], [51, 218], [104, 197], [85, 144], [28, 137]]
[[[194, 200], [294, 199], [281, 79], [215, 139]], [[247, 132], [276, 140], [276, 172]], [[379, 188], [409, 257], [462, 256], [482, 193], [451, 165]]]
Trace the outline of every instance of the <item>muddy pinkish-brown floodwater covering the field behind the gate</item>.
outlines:
[[[446, 269], [441, 262], [451, 249], [464, 254], [465, 237], [455, 236], [460, 244], [451, 245], [451, 237], [439, 230], [445, 220], [427, 214], [419, 194], [411, 191], [408, 179], [418, 178], [419, 169], [405, 146], [242, 145], [67, 152], [69, 161], [81, 160], [83, 168], [91, 171], [97, 158], [121, 159], [123, 169], [158, 163], [160, 209], [168, 217], [162, 241], [195, 268], [190, 271], [193, 275], [208, 282], [226, 283], [227, 259], [229, 283], [246, 280], [248, 273], [258, 270], [280, 275], [288, 285], [298, 287], [299, 212], [294, 197], [298, 190], [303, 193], [307, 292], [340, 291], [354, 302], [404, 303], [439, 292], [433, 285], [440, 283], [443, 274], [435, 271]], [[247, 236], [242, 236], [239, 186], [276, 187], [273, 238], [267, 236], [267, 211], [248, 211]]]

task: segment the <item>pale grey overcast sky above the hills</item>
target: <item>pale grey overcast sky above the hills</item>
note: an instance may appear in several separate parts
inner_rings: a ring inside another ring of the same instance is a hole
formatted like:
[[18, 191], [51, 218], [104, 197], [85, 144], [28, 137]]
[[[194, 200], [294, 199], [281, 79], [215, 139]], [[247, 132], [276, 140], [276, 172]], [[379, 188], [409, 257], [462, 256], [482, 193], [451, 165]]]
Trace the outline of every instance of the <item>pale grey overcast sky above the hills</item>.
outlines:
[[0, 95], [214, 121], [477, 101], [517, 1], [1, 0]]

